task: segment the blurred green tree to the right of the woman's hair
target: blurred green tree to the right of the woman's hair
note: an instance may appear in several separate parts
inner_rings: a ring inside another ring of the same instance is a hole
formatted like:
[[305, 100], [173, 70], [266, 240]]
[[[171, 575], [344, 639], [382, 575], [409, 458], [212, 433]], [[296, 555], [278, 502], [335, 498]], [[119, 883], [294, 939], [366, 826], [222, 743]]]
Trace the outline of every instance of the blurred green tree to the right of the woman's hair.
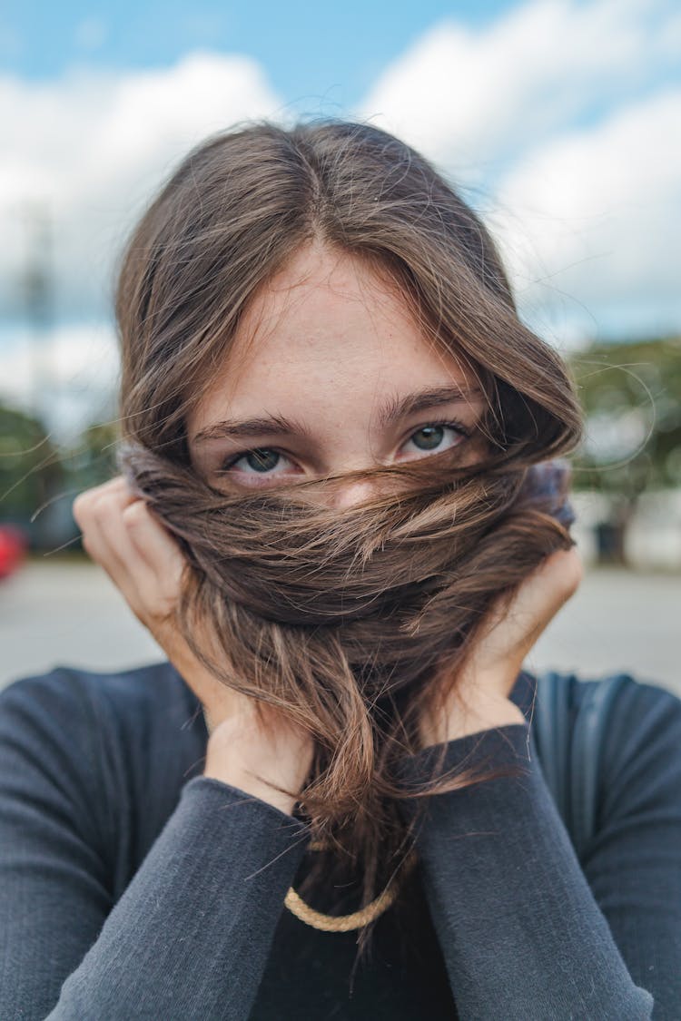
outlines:
[[573, 484], [609, 496], [602, 558], [624, 563], [640, 494], [681, 486], [681, 337], [594, 345], [570, 362], [586, 412]]

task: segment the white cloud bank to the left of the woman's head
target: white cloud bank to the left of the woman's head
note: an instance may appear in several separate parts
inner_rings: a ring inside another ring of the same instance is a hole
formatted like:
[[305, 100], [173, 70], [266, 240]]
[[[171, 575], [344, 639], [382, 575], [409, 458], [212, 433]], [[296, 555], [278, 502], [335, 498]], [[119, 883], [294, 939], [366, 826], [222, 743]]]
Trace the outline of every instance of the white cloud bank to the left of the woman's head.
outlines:
[[59, 317], [105, 315], [113, 259], [174, 164], [206, 135], [280, 112], [244, 56], [195, 52], [161, 70], [78, 69], [51, 83], [0, 78], [0, 315], [20, 311], [29, 201], [50, 209]]

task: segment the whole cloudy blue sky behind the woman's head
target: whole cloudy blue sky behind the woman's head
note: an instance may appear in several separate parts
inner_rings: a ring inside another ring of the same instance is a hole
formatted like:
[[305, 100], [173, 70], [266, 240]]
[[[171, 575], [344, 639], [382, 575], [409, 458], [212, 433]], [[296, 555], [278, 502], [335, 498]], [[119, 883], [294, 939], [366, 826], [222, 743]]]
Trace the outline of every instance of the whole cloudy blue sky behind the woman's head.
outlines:
[[[675, 0], [4, 0], [0, 396], [92, 416], [117, 373], [116, 257], [154, 190], [214, 131], [320, 115], [424, 152], [560, 349], [681, 331]], [[54, 280], [40, 330], [36, 253]]]

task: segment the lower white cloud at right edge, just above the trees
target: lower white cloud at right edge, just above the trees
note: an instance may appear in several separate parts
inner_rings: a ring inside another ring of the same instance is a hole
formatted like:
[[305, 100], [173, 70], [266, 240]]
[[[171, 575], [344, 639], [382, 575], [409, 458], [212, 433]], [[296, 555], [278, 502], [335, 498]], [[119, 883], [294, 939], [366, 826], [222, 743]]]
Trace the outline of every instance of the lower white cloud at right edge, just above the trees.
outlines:
[[679, 125], [681, 89], [665, 91], [538, 145], [500, 182], [490, 218], [527, 299], [565, 302], [590, 332], [681, 327]]

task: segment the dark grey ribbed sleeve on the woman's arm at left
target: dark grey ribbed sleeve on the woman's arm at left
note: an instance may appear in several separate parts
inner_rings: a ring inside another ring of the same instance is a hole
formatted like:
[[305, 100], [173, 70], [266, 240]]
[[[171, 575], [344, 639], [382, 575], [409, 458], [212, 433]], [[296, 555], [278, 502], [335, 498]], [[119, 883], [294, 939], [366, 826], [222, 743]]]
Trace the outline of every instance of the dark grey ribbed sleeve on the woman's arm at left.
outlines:
[[194, 777], [112, 904], [91, 723], [67, 672], [0, 692], [0, 1017], [247, 1019], [305, 827]]

